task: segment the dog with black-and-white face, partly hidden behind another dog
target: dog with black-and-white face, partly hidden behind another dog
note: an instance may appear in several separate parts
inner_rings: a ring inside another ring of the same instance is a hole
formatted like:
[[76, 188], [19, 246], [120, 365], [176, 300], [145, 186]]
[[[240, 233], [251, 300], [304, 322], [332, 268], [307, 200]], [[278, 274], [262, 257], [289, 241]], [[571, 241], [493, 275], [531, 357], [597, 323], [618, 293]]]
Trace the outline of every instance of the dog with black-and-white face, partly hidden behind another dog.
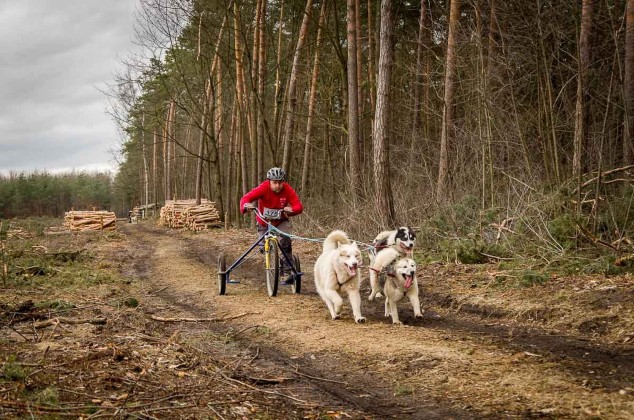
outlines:
[[[370, 266], [374, 269], [370, 270], [370, 286], [372, 292], [368, 297], [368, 300], [373, 300], [374, 297], [382, 297], [379, 290], [379, 282], [377, 278], [377, 271], [383, 270], [387, 264], [393, 262], [398, 257], [411, 256], [416, 244], [416, 233], [414, 229], [409, 226], [401, 226], [396, 230], [386, 230], [379, 233], [374, 241], [374, 253], [370, 253]], [[379, 255], [385, 253], [382, 257]], [[381, 264], [376, 264], [376, 261], [380, 260]]]

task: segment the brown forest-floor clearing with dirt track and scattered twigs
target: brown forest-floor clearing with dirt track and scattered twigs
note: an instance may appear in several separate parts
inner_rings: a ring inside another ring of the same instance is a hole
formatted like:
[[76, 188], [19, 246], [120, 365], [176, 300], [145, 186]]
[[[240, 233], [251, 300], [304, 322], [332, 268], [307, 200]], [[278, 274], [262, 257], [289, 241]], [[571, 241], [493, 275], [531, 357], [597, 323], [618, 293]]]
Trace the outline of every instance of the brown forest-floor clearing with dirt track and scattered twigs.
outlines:
[[269, 298], [254, 253], [218, 296], [218, 253], [231, 263], [253, 230], [118, 226], [43, 245], [86, 250], [87, 276], [119, 280], [0, 290], [0, 416], [634, 417], [629, 275], [521, 287], [494, 264], [420, 265], [424, 318], [405, 299], [395, 326], [367, 301], [366, 270], [357, 325], [347, 299], [332, 321], [315, 292], [318, 243], [294, 242], [300, 295]]

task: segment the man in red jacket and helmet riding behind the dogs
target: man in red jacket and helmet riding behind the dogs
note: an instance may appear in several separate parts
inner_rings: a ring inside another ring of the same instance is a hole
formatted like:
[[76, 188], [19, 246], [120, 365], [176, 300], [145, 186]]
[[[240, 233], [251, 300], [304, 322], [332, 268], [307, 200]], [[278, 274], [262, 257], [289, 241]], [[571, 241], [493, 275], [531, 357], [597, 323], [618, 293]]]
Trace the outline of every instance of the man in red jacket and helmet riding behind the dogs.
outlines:
[[[266, 181], [246, 193], [240, 200], [240, 210], [244, 214], [255, 208], [254, 201], [258, 201], [258, 210], [264, 213], [264, 209], [283, 209], [282, 217], [278, 220], [272, 220], [271, 224], [282, 232], [290, 234], [292, 225], [288, 219], [291, 216], [297, 216], [304, 210], [304, 206], [300, 201], [295, 190], [285, 182], [286, 172], [282, 168], [271, 168], [266, 173]], [[264, 235], [266, 232], [266, 222], [260, 217], [256, 217], [258, 222], [258, 234]], [[291, 238], [280, 235], [280, 248], [292, 258]], [[290, 268], [286, 266], [286, 261], [282, 257], [282, 273], [290, 274]]]

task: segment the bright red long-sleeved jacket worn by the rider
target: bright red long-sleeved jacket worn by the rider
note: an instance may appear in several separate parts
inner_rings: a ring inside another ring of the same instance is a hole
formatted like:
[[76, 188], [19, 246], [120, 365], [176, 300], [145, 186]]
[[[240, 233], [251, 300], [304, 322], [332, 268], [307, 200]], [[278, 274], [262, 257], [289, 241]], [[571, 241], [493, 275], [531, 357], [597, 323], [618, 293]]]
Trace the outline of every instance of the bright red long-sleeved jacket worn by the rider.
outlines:
[[[291, 206], [293, 212], [288, 216], [297, 216], [304, 210], [304, 205], [299, 200], [297, 193], [288, 183], [282, 184], [282, 189], [278, 194], [271, 190], [270, 181], [267, 179], [242, 197], [240, 200], [240, 211], [244, 214], [246, 210], [244, 205], [258, 200], [258, 210], [263, 212], [264, 208], [270, 209], [283, 209], [286, 206]], [[277, 226], [284, 220], [287, 220], [287, 215], [283, 214], [279, 220], [273, 220], [271, 224]], [[257, 217], [258, 224], [266, 226], [266, 222]]]

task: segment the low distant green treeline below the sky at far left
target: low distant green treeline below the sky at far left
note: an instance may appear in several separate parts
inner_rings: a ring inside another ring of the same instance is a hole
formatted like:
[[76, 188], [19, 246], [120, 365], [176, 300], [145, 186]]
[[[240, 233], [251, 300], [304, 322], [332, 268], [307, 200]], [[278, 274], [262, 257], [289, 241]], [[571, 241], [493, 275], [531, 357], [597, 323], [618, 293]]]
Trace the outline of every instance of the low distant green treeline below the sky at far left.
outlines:
[[0, 218], [63, 217], [75, 210], [110, 210], [112, 180], [105, 173], [0, 175]]

